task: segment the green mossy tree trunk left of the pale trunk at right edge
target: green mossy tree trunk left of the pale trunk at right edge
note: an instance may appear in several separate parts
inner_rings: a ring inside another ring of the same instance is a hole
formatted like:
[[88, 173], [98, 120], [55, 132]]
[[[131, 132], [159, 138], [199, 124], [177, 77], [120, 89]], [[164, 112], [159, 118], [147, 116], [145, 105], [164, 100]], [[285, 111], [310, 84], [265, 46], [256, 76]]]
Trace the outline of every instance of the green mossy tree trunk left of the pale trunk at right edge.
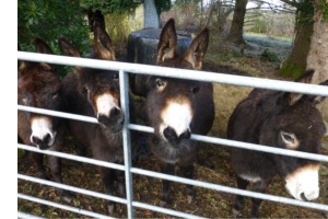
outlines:
[[297, 12], [295, 24], [295, 39], [291, 55], [283, 62], [280, 74], [298, 78], [306, 69], [306, 58], [309, 51], [311, 36], [313, 35], [313, 21], [305, 21], [313, 13]]

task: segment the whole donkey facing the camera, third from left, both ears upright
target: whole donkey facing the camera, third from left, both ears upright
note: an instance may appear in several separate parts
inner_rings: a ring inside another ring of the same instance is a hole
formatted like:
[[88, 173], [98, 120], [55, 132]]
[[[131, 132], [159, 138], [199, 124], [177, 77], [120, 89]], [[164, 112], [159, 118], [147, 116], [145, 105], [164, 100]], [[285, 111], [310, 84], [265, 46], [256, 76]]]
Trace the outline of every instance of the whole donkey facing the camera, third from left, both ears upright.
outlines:
[[[209, 30], [203, 28], [191, 42], [187, 51], [176, 56], [177, 36], [175, 22], [168, 20], [163, 27], [157, 45], [157, 65], [161, 67], [201, 69], [209, 43]], [[174, 174], [175, 164], [185, 177], [194, 177], [197, 142], [190, 140], [191, 132], [206, 135], [214, 119], [212, 83], [174, 78], [149, 77], [150, 92], [145, 108], [154, 135], [150, 137], [150, 149], [161, 161], [161, 171]], [[161, 205], [169, 203], [171, 182], [163, 181]], [[195, 191], [187, 185], [188, 203]]]

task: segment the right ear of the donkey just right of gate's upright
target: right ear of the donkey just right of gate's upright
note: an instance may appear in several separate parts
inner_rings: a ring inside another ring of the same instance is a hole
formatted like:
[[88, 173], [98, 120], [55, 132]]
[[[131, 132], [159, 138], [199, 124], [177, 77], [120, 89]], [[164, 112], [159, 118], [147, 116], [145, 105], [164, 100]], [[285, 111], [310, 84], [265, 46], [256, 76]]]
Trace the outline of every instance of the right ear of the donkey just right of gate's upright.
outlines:
[[191, 42], [184, 59], [192, 65], [194, 69], [200, 70], [202, 60], [209, 45], [210, 31], [204, 27], [198, 36]]

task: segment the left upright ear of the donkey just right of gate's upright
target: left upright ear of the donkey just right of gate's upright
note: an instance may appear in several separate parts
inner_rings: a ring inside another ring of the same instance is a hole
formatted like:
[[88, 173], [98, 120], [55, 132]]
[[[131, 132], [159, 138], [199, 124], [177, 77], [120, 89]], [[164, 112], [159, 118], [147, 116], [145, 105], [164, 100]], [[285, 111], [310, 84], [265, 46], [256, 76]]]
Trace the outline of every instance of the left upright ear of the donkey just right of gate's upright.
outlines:
[[177, 36], [175, 31], [174, 19], [169, 19], [163, 27], [157, 45], [157, 64], [165, 59], [175, 58]]

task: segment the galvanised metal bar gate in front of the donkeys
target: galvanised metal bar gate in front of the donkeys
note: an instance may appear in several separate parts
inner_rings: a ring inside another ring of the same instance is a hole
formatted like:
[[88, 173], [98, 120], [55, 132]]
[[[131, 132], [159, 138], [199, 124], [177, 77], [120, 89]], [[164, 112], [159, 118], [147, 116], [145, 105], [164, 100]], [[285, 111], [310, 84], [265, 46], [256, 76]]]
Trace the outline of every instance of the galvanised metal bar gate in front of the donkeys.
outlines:
[[[138, 125], [138, 124], [130, 124], [129, 123], [129, 115], [127, 114], [128, 111], [128, 74], [129, 73], [136, 73], [136, 74], [155, 74], [155, 76], [162, 76], [162, 77], [173, 77], [173, 78], [180, 78], [180, 79], [190, 79], [190, 80], [199, 80], [199, 81], [207, 81], [207, 82], [214, 82], [214, 83], [225, 83], [225, 84], [232, 84], [232, 85], [243, 85], [243, 87], [251, 87], [251, 88], [261, 88], [261, 89], [270, 89], [270, 90], [280, 90], [280, 91], [288, 91], [288, 92], [297, 92], [297, 93], [304, 93], [304, 94], [315, 94], [315, 95], [323, 95], [328, 96], [328, 88], [316, 85], [316, 84], [303, 84], [303, 83], [296, 83], [296, 82], [289, 82], [289, 81], [278, 81], [278, 80], [269, 80], [269, 79], [259, 79], [259, 78], [253, 78], [253, 77], [242, 77], [242, 76], [232, 76], [232, 74], [224, 74], [224, 73], [218, 73], [218, 72], [207, 72], [207, 71], [195, 71], [195, 70], [185, 70], [185, 69], [175, 69], [173, 71], [172, 68], [164, 68], [164, 67], [155, 67], [155, 66], [147, 66], [147, 65], [138, 65], [138, 64], [126, 64], [126, 62], [118, 62], [118, 61], [104, 61], [104, 60], [95, 60], [95, 59], [87, 59], [87, 58], [75, 58], [75, 57], [63, 57], [63, 56], [56, 56], [56, 55], [43, 55], [43, 54], [35, 54], [35, 53], [25, 53], [25, 51], [17, 51], [17, 59], [19, 60], [27, 60], [27, 61], [44, 61], [48, 64], [57, 64], [57, 65], [66, 65], [66, 66], [80, 66], [80, 67], [87, 67], [87, 68], [95, 68], [95, 69], [110, 69], [110, 70], [117, 70], [119, 71], [119, 79], [120, 79], [120, 93], [121, 93], [121, 107], [122, 111], [126, 113], [125, 117], [125, 125], [122, 129], [122, 141], [124, 141], [124, 154], [125, 154], [125, 164], [119, 165], [115, 163], [98, 161], [94, 159], [89, 159], [84, 157], [68, 154], [63, 152], [57, 152], [57, 151], [48, 151], [48, 150], [38, 150], [35, 147], [25, 146], [25, 145], [17, 145], [17, 148], [34, 152], [39, 152], [44, 154], [50, 154], [50, 155], [57, 155], [65, 159], [70, 159], [79, 162], [85, 162], [91, 163], [95, 165], [102, 165], [107, 166], [112, 169], [117, 169], [125, 171], [126, 174], [126, 193], [127, 198], [119, 198], [115, 196], [105, 195], [102, 193], [96, 193], [93, 191], [87, 191], [79, 187], [73, 187], [65, 184], [58, 184], [50, 181], [40, 180], [37, 177], [32, 177], [23, 174], [17, 174], [19, 180], [24, 180], [28, 182], [39, 183], [48, 186], [65, 188], [67, 191], [71, 191], [74, 193], [81, 193], [84, 195], [98, 197], [107, 200], [114, 200], [120, 204], [125, 204], [127, 206], [127, 212], [128, 218], [134, 218], [133, 217], [133, 208], [143, 208], [149, 209], [152, 211], [157, 211], [162, 214], [167, 214], [171, 216], [176, 217], [183, 217], [183, 218], [202, 218], [200, 216], [195, 216], [186, 212], [180, 212], [167, 208], [162, 208], [144, 203], [140, 203], [137, 200], [133, 200], [133, 189], [132, 189], [132, 181], [131, 176], [132, 174], [140, 174], [151, 177], [157, 177], [161, 180], [169, 180], [173, 182], [184, 183], [184, 184], [190, 184], [194, 186], [200, 186], [218, 192], [223, 193], [231, 193], [231, 194], [239, 194], [243, 196], [248, 197], [256, 197], [261, 198], [270, 201], [278, 201], [283, 204], [290, 204], [290, 205], [296, 205], [302, 206], [306, 208], [313, 208], [318, 210], [328, 211], [328, 205], [318, 204], [318, 203], [308, 203], [308, 201], [301, 201], [292, 198], [285, 198], [269, 194], [261, 194], [250, 191], [243, 191], [234, 187], [229, 187], [224, 185], [213, 184], [213, 183], [207, 183], [201, 182], [197, 180], [189, 180], [179, 176], [174, 175], [167, 175], [162, 174], [153, 171], [142, 170], [138, 168], [131, 166], [131, 150], [130, 150], [130, 130], [138, 130], [138, 131], [145, 131], [145, 132], [153, 132], [153, 128]], [[97, 123], [96, 118], [82, 116], [82, 115], [74, 115], [69, 113], [62, 113], [62, 112], [54, 112], [44, 108], [35, 108], [35, 107], [28, 107], [23, 105], [17, 105], [19, 111], [27, 111], [27, 112], [35, 112], [51, 116], [59, 116], [63, 118], [70, 118], [70, 119], [78, 119], [89, 123]], [[227, 140], [223, 138], [214, 138], [209, 136], [200, 136], [200, 135], [191, 135], [192, 140], [197, 141], [203, 141], [209, 143], [215, 143], [215, 145], [223, 145], [227, 147], [236, 147], [236, 148], [244, 148], [249, 150], [259, 150], [276, 154], [284, 154], [284, 155], [292, 155], [297, 158], [306, 158], [312, 159], [320, 162], [328, 162], [328, 155], [323, 154], [313, 154], [307, 152], [300, 152], [300, 151], [292, 151], [292, 150], [285, 150], [285, 149], [278, 149], [272, 147], [266, 147], [266, 146], [258, 146], [254, 143], [247, 143], [247, 142], [241, 142], [241, 141], [234, 141], [234, 140]], [[80, 208], [74, 208], [71, 206], [61, 205], [58, 203], [52, 203], [49, 200], [39, 199], [36, 197], [27, 196], [24, 194], [19, 194], [17, 198], [52, 206], [56, 208], [60, 208], [63, 210], [69, 210], [72, 212], [81, 214], [84, 216], [95, 217], [95, 218], [110, 218], [105, 215], [99, 215], [96, 212], [83, 210]], [[38, 218], [36, 216], [30, 215], [28, 212], [19, 212], [20, 218]]]

